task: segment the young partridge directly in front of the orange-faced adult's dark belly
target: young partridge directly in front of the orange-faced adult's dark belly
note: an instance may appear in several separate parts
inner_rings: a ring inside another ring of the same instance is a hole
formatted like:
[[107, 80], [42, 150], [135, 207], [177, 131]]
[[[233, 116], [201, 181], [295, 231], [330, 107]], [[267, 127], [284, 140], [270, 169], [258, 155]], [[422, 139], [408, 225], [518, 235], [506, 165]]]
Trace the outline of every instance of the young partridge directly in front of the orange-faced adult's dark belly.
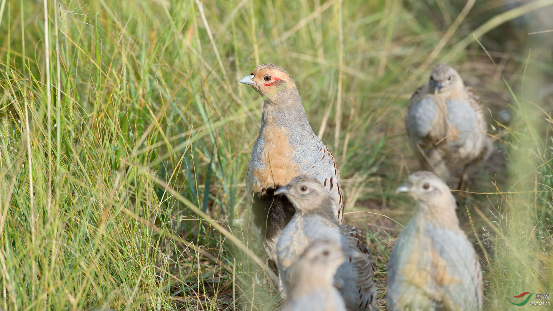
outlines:
[[374, 260], [361, 232], [354, 226], [338, 224], [332, 197], [317, 178], [295, 177], [275, 194], [284, 194], [296, 209], [294, 217], [276, 243], [278, 270], [285, 292], [290, 292], [293, 266], [305, 249], [319, 240], [341, 244], [346, 261], [338, 267], [335, 286], [348, 310], [374, 310]]

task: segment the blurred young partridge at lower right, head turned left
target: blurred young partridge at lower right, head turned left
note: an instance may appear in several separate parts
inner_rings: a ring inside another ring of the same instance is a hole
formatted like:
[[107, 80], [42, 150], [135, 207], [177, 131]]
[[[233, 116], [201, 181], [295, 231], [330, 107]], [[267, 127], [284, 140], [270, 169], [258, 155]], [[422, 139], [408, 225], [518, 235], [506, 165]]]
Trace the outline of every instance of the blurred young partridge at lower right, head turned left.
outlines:
[[448, 186], [419, 171], [398, 192], [411, 194], [416, 207], [388, 262], [388, 310], [481, 310], [480, 262]]

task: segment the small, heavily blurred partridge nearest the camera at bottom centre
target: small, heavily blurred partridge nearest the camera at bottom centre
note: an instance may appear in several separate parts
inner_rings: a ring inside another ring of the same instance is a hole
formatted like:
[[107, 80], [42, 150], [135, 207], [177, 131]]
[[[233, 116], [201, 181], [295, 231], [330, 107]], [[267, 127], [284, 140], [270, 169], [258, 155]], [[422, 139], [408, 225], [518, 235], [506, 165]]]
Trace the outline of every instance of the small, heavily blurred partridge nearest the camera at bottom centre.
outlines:
[[317, 241], [292, 267], [294, 280], [286, 292], [283, 311], [346, 311], [344, 299], [333, 285], [336, 269], [346, 260], [342, 245]]

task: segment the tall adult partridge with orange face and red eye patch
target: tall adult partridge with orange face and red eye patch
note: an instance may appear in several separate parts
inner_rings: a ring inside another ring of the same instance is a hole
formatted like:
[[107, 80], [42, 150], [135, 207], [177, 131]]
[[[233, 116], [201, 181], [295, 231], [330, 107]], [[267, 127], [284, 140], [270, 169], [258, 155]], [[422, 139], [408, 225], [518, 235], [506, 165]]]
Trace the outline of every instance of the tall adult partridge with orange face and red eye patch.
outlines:
[[283, 68], [260, 65], [238, 82], [252, 86], [264, 99], [246, 185], [259, 238], [276, 261], [274, 247], [294, 215], [294, 207], [275, 190], [300, 174], [312, 176], [330, 193], [332, 213], [341, 222], [340, 170], [332, 153], [311, 130], [298, 88]]

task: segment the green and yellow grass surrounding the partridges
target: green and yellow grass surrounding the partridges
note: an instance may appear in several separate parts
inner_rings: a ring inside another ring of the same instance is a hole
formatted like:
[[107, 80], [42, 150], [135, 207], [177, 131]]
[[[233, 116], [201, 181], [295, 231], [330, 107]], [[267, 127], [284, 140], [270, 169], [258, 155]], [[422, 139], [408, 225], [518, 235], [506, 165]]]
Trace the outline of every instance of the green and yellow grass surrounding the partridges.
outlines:
[[277, 308], [245, 197], [262, 101], [236, 83], [266, 62], [340, 165], [379, 299], [413, 206], [406, 104], [456, 67], [496, 139], [458, 194], [486, 308], [553, 292], [553, 33], [528, 35], [552, 4], [0, 0], [0, 308]]

